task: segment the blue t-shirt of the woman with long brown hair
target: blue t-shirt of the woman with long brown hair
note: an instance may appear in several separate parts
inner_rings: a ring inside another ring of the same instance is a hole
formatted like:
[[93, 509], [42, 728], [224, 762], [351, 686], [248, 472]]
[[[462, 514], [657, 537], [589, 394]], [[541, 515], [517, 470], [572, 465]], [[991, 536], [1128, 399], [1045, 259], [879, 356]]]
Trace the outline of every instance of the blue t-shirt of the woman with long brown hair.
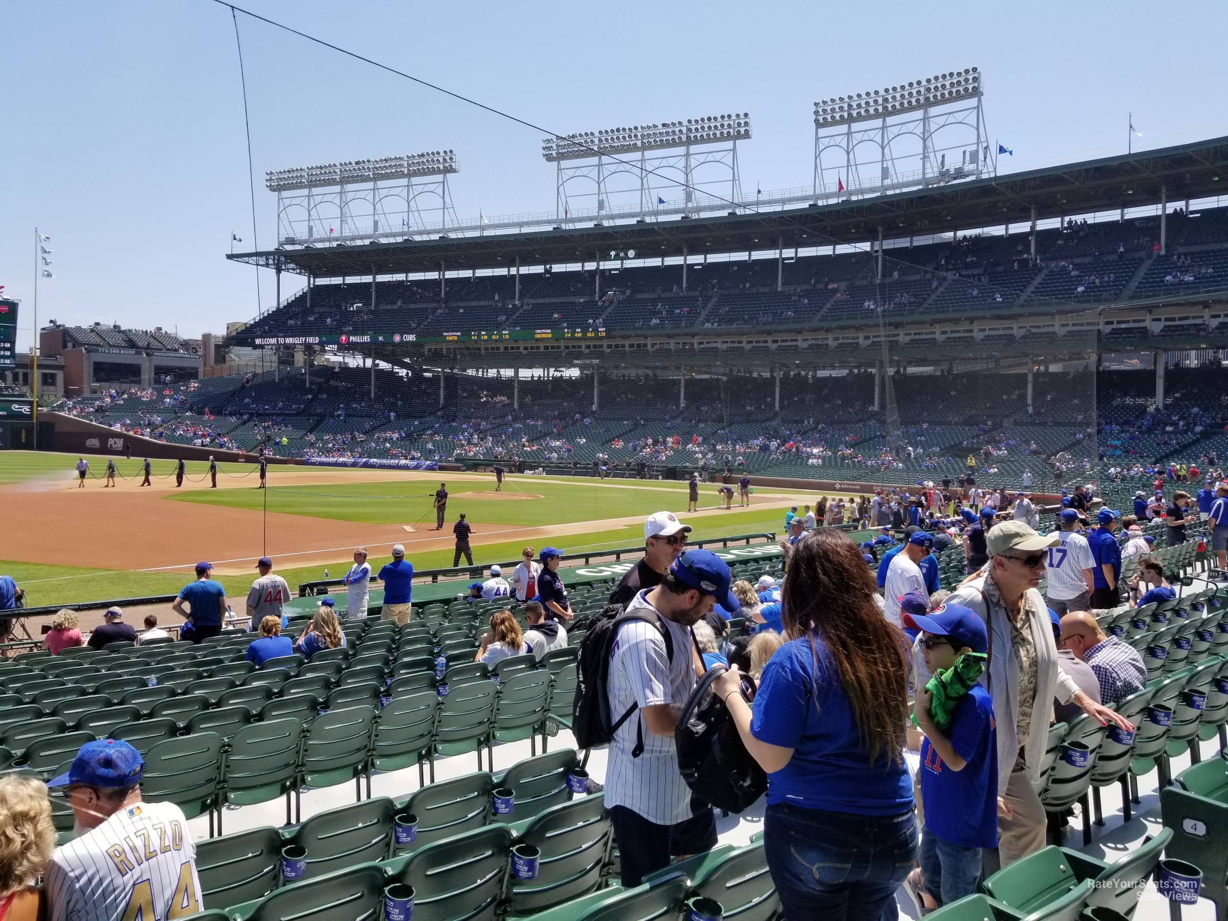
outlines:
[[910, 810], [907, 769], [903, 761], [871, 764], [826, 647], [812, 637], [781, 646], [759, 679], [750, 733], [760, 742], [793, 749], [788, 764], [768, 775], [769, 804], [858, 815]]

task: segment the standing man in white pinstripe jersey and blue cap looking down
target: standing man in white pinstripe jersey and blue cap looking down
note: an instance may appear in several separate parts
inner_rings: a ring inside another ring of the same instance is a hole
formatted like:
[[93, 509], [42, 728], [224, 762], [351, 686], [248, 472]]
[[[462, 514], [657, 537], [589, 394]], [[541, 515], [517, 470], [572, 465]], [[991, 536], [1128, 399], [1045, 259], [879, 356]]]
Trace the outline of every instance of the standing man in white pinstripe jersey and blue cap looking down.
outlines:
[[639, 709], [614, 733], [605, 766], [605, 804], [614, 824], [624, 887], [639, 885], [670, 857], [711, 850], [716, 823], [706, 803], [693, 801], [678, 769], [674, 727], [702, 659], [691, 625], [720, 604], [738, 609], [729, 592], [729, 567], [710, 550], [688, 550], [661, 585], [637, 592], [619, 628], [610, 657], [610, 715]]

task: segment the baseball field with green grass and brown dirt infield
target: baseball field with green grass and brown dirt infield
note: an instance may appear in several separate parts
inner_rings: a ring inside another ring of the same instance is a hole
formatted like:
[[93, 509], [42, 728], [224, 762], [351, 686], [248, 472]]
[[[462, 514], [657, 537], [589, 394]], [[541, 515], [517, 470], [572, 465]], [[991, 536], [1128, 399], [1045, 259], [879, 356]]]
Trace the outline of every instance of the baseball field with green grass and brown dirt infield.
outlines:
[[[698, 512], [686, 512], [686, 484], [507, 476], [495, 491], [490, 474], [419, 473], [270, 465], [258, 489], [254, 464], [190, 462], [182, 488], [173, 463], [154, 462], [151, 486], [140, 486], [141, 462], [119, 458], [114, 489], [104, 486], [104, 457], [87, 457], [77, 488], [76, 456], [0, 452], [0, 573], [27, 593], [27, 607], [134, 598], [177, 592], [206, 560], [223, 582], [242, 582], [255, 559], [274, 558], [290, 582], [336, 577], [354, 546], [366, 546], [378, 569], [389, 548], [405, 545], [419, 570], [451, 566], [452, 524], [462, 512], [473, 527], [478, 565], [516, 560], [521, 548], [564, 553], [642, 544], [642, 522], [672, 511], [693, 538], [783, 532], [790, 505], [814, 494], [755, 489], [752, 505], [727, 511], [716, 485], [700, 486]], [[442, 530], [435, 530], [435, 490], [447, 483]], [[463, 561], [462, 561], [463, 562]], [[235, 589], [231, 589], [232, 592]]]

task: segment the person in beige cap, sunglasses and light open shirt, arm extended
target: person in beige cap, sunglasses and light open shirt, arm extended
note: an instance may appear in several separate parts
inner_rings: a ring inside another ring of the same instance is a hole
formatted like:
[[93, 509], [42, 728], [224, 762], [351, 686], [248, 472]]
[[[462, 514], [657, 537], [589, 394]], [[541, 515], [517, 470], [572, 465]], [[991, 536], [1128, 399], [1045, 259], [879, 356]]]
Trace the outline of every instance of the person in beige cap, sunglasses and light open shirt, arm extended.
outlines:
[[[990, 662], [981, 683], [993, 699], [997, 790], [1009, 807], [1009, 814], [998, 819], [998, 856], [1007, 866], [1045, 846], [1045, 809], [1036, 785], [1054, 698], [1062, 704], [1073, 700], [1102, 722], [1133, 727], [1083, 694], [1059, 667], [1049, 609], [1036, 591], [1045, 551], [1057, 538], [1011, 521], [996, 524], [986, 542], [987, 571], [952, 592], [947, 604], [971, 608], [990, 634]], [[917, 684], [925, 680], [926, 675], [919, 675]]]

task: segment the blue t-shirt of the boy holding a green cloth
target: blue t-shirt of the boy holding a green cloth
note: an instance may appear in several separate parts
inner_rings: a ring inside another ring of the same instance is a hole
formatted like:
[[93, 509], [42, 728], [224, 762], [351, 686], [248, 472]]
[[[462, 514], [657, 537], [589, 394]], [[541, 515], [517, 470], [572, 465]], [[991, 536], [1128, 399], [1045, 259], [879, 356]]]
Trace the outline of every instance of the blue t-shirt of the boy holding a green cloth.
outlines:
[[968, 764], [953, 771], [921, 742], [921, 802], [926, 831], [959, 847], [997, 847], [997, 726], [985, 688], [974, 684], [955, 707], [947, 734]]

